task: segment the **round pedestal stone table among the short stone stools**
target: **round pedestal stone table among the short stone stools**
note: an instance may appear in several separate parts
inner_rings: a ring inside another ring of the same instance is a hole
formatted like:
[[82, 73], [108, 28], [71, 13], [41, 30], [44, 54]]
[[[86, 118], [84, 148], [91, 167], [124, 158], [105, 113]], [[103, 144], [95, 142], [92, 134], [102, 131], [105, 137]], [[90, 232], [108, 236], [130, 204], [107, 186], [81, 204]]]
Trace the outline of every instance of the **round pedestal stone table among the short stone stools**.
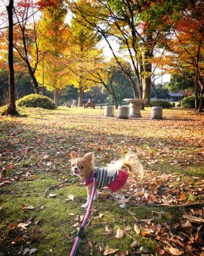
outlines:
[[140, 110], [147, 99], [124, 99], [124, 101], [129, 102], [129, 117], [142, 117]]

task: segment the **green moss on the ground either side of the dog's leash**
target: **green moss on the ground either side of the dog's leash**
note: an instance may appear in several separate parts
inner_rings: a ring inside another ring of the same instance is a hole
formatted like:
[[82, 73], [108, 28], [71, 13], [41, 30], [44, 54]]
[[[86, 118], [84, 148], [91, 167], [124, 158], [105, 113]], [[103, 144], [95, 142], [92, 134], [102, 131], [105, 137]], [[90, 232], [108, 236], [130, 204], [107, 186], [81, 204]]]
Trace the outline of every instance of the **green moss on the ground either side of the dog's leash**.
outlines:
[[[4, 210], [0, 220], [3, 221], [3, 230], [8, 233], [10, 223], [24, 223], [25, 220], [33, 217], [32, 224], [27, 227], [26, 234], [33, 237], [33, 248], [38, 248], [37, 255], [45, 255], [52, 252], [54, 255], [65, 255], [70, 252], [73, 241], [76, 236], [76, 228], [73, 225], [77, 215], [84, 215], [85, 210], [80, 205], [85, 202], [86, 191], [83, 186], [68, 183], [66, 187], [50, 191], [57, 196], [54, 198], [44, 197], [45, 190], [52, 184], [57, 184], [55, 177], [51, 175], [38, 175], [37, 179], [29, 182], [17, 182], [14, 185], [3, 188], [3, 206]], [[71, 194], [75, 196], [74, 201], [66, 201], [67, 196]], [[22, 205], [32, 205], [34, 209], [22, 211]], [[41, 209], [41, 207], [44, 207]], [[113, 202], [94, 202], [93, 207], [98, 209], [98, 214], [103, 213], [102, 218], [91, 217], [91, 225], [85, 229], [85, 234], [94, 244], [119, 248], [121, 252], [129, 250], [133, 237], [124, 236], [119, 240], [115, 238], [117, 228], [125, 228], [134, 223], [133, 217], [128, 214], [127, 210], [122, 210]], [[145, 207], [129, 207], [136, 213], [137, 218], [146, 218], [151, 209]], [[75, 214], [69, 216], [69, 213]], [[36, 224], [35, 224], [36, 223]], [[111, 235], [103, 235], [105, 223], [110, 225], [112, 229]], [[15, 230], [15, 232], [14, 232]], [[8, 241], [11, 243], [18, 234], [18, 228], [12, 230], [9, 234]], [[36, 232], [38, 230], [39, 232]], [[74, 233], [73, 233], [74, 232]], [[141, 239], [143, 246], [153, 248], [152, 241], [145, 237], [136, 237]], [[87, 241], [82, 239], [80, 247], [83, 252], [90, 252]], [[152, 247], [151, 247], [152, 246]], [[151, 249], [153, 250], [153, 249]], [[11, 253], [12, 255], [12, 253]], [[78, 254], [80, 255], [80, 254]], [[100, 255], [99, 250], [94, 247], [94, 255]]]

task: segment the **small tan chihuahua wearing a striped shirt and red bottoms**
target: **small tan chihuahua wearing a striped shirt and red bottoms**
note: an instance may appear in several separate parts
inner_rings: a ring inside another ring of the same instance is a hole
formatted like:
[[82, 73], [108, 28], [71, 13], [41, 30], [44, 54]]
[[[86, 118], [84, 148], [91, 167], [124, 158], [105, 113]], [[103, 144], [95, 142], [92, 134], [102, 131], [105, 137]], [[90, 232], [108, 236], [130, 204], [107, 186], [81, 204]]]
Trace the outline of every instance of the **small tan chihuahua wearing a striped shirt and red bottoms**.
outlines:
[[[122, 170], [122, 166], [128, 167], [128, 172]], [[121, 160], [108, 164], [104, 168], [94, 166], [94, 156], [87, 153], [84, 157], [79, 157], [77, 152], [71, 152], [71, 170], [72, 172], [84, 180], [87, 188], [87, 202], [82, 205], [87, 208], [91, 198], [93, 188], [93, 173], [96, 177], [96, 188], [100, 189], [105, 186], [111, 189], [117, 197], [122, 200], [120, 207], [126, 207], [125, 196], [122, 195], [122, 189], [126, 186], [128, 176], [138, 174], [143, 179], [143, 166], [138, 157], [133, 153], [127, 153]], [[97, 199], [97, 191], [94, 200]]]

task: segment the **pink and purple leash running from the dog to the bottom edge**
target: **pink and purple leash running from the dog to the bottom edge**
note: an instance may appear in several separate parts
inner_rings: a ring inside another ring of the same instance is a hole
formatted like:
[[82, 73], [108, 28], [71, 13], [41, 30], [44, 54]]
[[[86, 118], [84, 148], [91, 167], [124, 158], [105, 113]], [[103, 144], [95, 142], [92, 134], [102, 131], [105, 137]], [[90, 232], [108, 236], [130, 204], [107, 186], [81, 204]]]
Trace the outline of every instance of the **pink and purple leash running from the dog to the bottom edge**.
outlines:
[[84, 227], [85, 227], [85, 225], [87, 223], [87, 220], [89, 219], [89, 215], [91, 213], [91, 207], [92, 207], [92, 202], [94, 200], [95, 192], [96, 192], [96, 178], [94, 177], [94, 173], [93, 173], [93, 188], [92, 188], [91, 198], [90, 198], [89, 205], [88, 205], [88, 208], [87, 208], [87, 212], [85, 213], [82, 225], [81, 225], [80, 229], [78, 230], [78, 234], [77, 234], [77, 237], [75, 239], [75, 243], [74, 243], [73, 248], [71, 250], [70, 256], [75, 255], [75, 253], [77, 252], [77, 248], [78, 248], [80, 238], [82, 237], [82, 234], [84, 232]]

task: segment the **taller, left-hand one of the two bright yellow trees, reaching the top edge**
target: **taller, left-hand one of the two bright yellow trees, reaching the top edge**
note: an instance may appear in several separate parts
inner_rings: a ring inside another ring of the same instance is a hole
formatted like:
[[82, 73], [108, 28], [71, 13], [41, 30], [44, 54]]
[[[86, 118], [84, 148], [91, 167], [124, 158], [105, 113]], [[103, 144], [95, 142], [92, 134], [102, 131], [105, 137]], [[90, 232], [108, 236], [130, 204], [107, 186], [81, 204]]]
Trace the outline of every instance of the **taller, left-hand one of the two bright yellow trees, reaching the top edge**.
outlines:
[[55, 1], [54, 6], [44, 6], [39, 26], [40, 30], [44, 31], [40, 42], [43, 61], [38, 66], [36, 76], [42, 85], [54, 92], [56, 106], [59, 105], [59, 92], [68, 85], [69, 78], [65, 65], [70, 30], [64, 23], [66, 13], [61, 0]]

